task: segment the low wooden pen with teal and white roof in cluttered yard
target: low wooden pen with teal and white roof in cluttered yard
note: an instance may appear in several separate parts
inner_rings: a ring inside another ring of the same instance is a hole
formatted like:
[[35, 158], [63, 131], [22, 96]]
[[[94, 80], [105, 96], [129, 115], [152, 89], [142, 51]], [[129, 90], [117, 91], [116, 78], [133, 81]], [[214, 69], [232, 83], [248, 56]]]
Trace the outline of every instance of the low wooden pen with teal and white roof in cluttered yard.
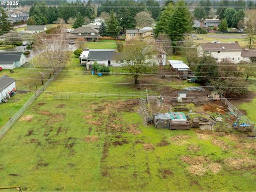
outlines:
[[170, 130], [190, 130], [190, 122], [182, 112], [158, 113], [154, 115], [156, 128]]

